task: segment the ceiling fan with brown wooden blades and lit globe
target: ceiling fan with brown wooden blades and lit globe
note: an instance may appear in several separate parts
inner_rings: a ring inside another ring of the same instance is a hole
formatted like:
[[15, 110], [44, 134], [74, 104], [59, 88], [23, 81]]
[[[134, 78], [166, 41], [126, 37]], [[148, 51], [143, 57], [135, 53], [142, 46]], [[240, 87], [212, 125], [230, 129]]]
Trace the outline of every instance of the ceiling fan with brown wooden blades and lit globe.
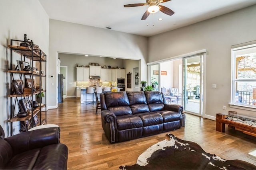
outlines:
[[135, 7], [135, 6], [146, 6], [148, 5], [148, 10], [146, 10], [146, 12], [143, 14], [141, 20], [146, 20], [149, 16], [150, 13], [156, 13], [158, 12], [159, 10], [161, 12], [163, 12], [164, 14], [166, 15], [169, 15], [169, 16], [172, 16], [174, 14], [174, 12], [165, 7], [165, 6], [162, 6], [160, 5], [160, 3], [163, 3], [163, 2], [168, 2], [170, 0], [146, 0], [146, 4], [127, 4], [127, 5], [124, 5], [124, 7]]

